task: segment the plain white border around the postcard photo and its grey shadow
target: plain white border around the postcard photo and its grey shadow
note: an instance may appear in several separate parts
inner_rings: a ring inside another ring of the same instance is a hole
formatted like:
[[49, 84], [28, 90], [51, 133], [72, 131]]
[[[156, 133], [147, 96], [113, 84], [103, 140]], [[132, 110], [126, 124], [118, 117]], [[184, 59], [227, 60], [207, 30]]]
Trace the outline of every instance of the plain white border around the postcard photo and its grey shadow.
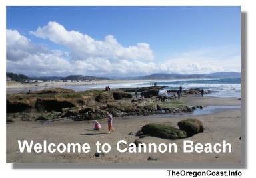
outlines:
[[[147, 2], [147, 3], [146, 3]], [[253, 109], [255, 107], [255, 67], [256, 67], [256, 56], [255, 56], [255, 19], [256, 19], [256, 9], [254, 1], [249, 0], [173, 0], [167, 2], [166, 0], [147, 0], [147, 1], [138, 1], [138, 0], [123, 0], [123, 1], [113, 1], [113, 0], [94, 0], [94, 1], [82, 1], [82, 0], [2, 0], [0, 1], [0, 39], [1, 39], [1, 141], [3, 144], [0, 146], [0, 155], [1, 155], [1, 177], [166, 177], [166, 169], [12, 169], [11, 164], [5, 163], [5, 31], [6, 31], [6, 5], [241, 5], [241, 11], [247, 12], [247, 96], [248, 96], [248, 113], [247, 113], [247, 169], [243, 170], [243, 177], [254, 177], [255, 176], [255, 126], [256, 118]], [[198, 170], [198, 169], [197, 169]], [[199, 170], [198, 170], [199, 171]]]

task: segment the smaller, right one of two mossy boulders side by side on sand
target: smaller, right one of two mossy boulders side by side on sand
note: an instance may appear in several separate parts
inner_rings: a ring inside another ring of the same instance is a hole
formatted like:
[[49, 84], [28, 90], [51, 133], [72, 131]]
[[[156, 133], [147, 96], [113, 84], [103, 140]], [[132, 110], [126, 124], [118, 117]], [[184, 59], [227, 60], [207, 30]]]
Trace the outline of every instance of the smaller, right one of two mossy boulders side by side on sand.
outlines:
[[185, 130], [187, 137], [191, 137], [199, 132], [203, 132], [203, 123], [197, 119], [187, 119], [178, 122], [181, 130]]

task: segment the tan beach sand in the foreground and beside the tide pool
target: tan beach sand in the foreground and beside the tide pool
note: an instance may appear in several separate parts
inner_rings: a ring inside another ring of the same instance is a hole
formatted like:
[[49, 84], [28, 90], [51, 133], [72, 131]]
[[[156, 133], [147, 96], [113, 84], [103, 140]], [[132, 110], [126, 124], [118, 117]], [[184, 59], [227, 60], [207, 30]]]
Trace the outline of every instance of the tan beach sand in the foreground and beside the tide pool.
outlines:
[[[240, 105], [237, 98], [214, 97], [182, 97], [182, 100], [193, 105], [202, 106], [230, 106]], [[186, 118], [197, 118], [203, 122], [205, 132], [193, 137], [179, 140], [168, 140], [157, 137], [139, 139], [142, 143], [176, 143], [177, 153], [119, 153], [116, 149], [117, 141], [123, 139], [133, 143], [135, 137], [130, 132], [137, 132], [141, 127], [151, 122], [172, 122], [174, 125]], [[242, 118], [243, 119], [243, 118]], [[187, 165], [205, 163], [241, 164], [241, 111], [226, 110], [214, 114], [193, 117], [161, 117], [161, 116], [133, 116], [127, 118], [114, 118], [115, 132], [107, 134], [107, 121], [99, 120], [102, 130], [94, 131], [93, 121], [73, 122], [61, 120], [49, 124], [41, 122], [19, 121], [7, 124], [7, 163], [165, 163], [171, 165], [183, 163]], [[89, 153], [19, 153], [17, 140], [34, 140], [36, 143], [89, 143]], [[243, 139], [243, 138], [242, 138]], [[226, 140], [232, 145], [232, 153], [183, 153], [183, 140], [194, 143], [222, 143]], [[109, 143], [111, 151], [103, 157], [95, 157], [95, 143]], [[157, 158], [156, 161], [147, 160], [148, 157]]]

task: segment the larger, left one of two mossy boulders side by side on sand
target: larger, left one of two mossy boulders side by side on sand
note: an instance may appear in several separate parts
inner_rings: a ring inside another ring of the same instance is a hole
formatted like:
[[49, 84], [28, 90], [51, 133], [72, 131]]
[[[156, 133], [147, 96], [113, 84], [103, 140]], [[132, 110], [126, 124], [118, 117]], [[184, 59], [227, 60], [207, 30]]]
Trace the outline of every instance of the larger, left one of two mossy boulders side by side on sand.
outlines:
[[141, 131], [143, 131], [144, 134], [163, 139], [183, 139], [187, 137], [185, 131], [174, 128], [171, 124], [151, 123], [143, 126]]

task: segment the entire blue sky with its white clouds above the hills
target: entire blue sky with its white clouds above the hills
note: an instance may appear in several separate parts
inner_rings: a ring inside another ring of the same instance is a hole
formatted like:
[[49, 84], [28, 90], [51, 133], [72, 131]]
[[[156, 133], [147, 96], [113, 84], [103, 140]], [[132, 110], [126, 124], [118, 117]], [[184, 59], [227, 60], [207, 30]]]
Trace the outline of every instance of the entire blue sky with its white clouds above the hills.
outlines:
[[7, 72], [240, 72], [240, 7], [7, 7]]

